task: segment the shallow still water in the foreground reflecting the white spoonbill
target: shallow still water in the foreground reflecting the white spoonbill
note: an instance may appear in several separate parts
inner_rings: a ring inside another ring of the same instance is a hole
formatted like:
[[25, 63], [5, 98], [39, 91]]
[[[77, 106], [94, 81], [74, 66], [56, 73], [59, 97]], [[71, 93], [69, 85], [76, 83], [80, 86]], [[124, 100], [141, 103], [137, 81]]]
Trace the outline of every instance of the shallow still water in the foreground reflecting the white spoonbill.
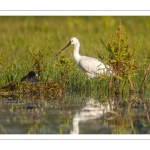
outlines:
[[65, 95], [60, 100], [1, 96], [0, 134], [150, 133], [141, 103], [136, 103], [130, 112], [123, 105], [115, 117], [114, 114], [107, 116], [109, 104], [79, 95]]

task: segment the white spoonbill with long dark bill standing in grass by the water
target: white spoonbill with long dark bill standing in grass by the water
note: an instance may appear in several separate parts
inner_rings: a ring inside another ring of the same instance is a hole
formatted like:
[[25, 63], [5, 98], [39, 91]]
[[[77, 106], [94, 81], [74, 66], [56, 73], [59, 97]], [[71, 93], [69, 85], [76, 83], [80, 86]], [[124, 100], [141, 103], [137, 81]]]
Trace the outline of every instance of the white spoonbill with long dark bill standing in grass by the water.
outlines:
[[79, 54], [80, 42], [76, 37], [72, 37], [69, 43], [63, 49], [61, 49], [56, 54], [56, 56], [59, 55], [64, 49], [66, 49], [71, 44], [74, 45], [73, 57], [77, 65], [80, 67], [81, 70], [83, 70], [87, 74], [89, 79], [94, 78], [95, 76], [101, 76], [103, 74], [110, 75], [111, 70], [108, 65], [104, 65], [96, 58], [81, 56]]

